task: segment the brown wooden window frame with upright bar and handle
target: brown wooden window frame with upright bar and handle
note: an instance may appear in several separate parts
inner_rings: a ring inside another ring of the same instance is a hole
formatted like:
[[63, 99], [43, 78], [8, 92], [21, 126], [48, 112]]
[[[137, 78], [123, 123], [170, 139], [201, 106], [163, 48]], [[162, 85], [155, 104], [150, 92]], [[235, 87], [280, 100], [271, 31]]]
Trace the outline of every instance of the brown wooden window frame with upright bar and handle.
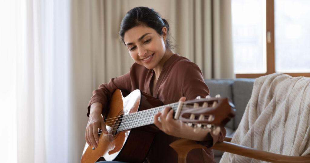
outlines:
[[[260, 76], [275, 73], [275, 48], [274, 48], [274, 0], [266, 0], [266, 39], [270, 32], [271, 40], [266, 41], [266, 68], [267, 72], [263, 74], [236, 74], [236, 78], [258, 78]], [[283, 73], [293, 77], [310, 77], [310, 73]]]

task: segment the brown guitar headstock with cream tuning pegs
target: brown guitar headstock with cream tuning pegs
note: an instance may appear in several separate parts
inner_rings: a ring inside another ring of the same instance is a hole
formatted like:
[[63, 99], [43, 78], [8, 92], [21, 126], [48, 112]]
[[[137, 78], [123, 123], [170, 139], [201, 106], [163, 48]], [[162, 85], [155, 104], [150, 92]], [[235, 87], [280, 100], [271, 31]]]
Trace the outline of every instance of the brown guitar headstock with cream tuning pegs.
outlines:
[[214, 130], [218, 134], [220, 127], [225, 126], [235, 116], [235, 106], [227, 97], [198, 96], [195, 100], [183, 102], [179, 120], [194, 128]]

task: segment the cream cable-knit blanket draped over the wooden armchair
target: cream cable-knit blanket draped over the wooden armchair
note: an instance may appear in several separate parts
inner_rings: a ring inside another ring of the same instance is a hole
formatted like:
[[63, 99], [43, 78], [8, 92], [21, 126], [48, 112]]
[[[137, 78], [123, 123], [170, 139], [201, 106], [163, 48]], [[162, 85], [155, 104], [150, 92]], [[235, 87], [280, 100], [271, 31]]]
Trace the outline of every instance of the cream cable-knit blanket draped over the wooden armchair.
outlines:
[[[257, 78], [231, 143], [272, 153], [310, 154], [310, 78]], [[265, 162], [225, 152], [220, 163]]]

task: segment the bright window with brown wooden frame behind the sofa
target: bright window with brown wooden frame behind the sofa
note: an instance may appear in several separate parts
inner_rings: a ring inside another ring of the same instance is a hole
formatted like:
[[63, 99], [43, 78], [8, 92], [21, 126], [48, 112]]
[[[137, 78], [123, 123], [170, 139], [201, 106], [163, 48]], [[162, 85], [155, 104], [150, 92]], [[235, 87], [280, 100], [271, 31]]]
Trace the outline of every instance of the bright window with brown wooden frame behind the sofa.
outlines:
[[232, 0], [236, 77], [310, 77], [307, 0]]

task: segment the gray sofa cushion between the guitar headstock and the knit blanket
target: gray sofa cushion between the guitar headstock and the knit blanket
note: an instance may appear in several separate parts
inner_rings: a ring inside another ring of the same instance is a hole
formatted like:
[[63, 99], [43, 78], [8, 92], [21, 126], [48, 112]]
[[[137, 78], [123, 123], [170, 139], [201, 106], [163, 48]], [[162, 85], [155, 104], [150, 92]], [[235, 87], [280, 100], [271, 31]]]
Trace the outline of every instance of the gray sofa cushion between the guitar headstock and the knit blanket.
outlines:
[[237, 78], [232, 84], [233, 103], [236, 107], [233, 130], [236, 130], [250, 100], [255, 79]]

